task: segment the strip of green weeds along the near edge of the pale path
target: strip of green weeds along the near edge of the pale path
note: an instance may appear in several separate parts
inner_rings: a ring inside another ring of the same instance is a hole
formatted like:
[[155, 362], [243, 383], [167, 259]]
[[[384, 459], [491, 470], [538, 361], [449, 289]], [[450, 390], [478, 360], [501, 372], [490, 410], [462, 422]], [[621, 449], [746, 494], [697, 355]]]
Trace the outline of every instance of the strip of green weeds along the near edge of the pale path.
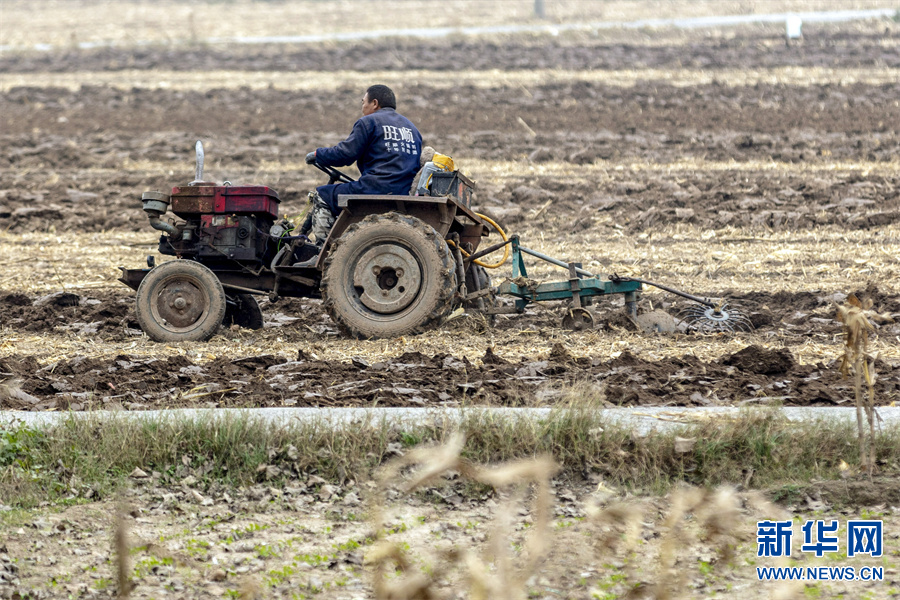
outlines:
[[[0, 430], [0, 499], [28, 508], [43, 501], [103, 498], [129, 480], [244, 486], [315, 477], [330, 484], [365, 480], [411, 438], [446, 443], [464, 434], [461, 456], [497, 463], [546, 455], [571, 477], [599, 476], [635, 491], [664, 492], [677, 483], [767, 488], [834, 479], [859, 461], [852, 423], [795, 423], [777, 410], [748, 410], [681, 429], [638, 435], [604, 421], [590, 406], [571, 406], [542, 420], [470, 410], [458, 423], [405, 426], [369, 419], [343, 425], [273, 426], [248, 415], [207, 419], [70, 418], [46, 430]], [[685, 442], [689, 442], [685, 444]], [[900, 464], [900, 431], [875, 432], [875, 462]], [[484, 495], [467, 481], [462, 491]]]

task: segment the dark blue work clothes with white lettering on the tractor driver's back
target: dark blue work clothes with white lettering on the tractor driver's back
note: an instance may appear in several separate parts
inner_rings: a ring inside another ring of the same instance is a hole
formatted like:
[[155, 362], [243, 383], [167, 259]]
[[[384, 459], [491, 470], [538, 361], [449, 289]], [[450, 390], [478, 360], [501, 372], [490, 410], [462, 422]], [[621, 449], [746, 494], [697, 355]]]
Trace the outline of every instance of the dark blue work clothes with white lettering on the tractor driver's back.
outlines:
[[338, 194], [409, 194], [419, 171], [422, 136], [412, 122], [393, 108], [382, 108], [361, 117], [350, 136], [332, 148], [317, 148], [316, 160], [329, 167], [354, 162], [359, 179], [352, 183], [322, 185], [319, 196], [337, 215]]

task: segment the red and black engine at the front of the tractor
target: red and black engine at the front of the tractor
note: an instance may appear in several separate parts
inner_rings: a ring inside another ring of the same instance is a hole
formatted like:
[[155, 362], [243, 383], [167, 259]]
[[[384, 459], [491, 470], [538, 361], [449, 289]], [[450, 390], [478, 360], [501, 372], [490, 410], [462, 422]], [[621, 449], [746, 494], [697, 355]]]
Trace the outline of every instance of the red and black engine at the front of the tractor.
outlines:
[[[268, 264], [274, 254], [269, 230], [278, 218], [278, 193], [262, 185], [193, 182], [171, 194], [144, 192], [144, 211], [159, 238], [160, 254], [205, 264]], [[171, 208], [184, 222], [161, 221]]]

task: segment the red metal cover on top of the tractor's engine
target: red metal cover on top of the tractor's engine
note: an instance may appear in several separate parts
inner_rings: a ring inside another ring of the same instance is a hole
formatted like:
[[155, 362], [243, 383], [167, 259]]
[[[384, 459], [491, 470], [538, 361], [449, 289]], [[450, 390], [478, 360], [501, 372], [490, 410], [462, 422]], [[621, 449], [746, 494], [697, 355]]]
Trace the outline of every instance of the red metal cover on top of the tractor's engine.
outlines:
[[278, 218], [278, 192], [264, 185], [191, 185], [172, 188], [172, 212], [182, 218], [209, 214]]

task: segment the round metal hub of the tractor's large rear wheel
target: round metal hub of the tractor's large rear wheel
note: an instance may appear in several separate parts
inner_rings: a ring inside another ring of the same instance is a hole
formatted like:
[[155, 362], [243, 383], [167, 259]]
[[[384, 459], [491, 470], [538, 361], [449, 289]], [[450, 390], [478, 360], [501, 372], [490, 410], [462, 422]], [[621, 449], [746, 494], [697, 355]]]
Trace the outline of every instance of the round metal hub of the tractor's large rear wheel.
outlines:
[[353, 270], [353, 286], [363, 305], [377, 313], [392, 314], [412, 304], [422, 287], [415, 256], [401, 246], [380, 245], [360, 256]]

